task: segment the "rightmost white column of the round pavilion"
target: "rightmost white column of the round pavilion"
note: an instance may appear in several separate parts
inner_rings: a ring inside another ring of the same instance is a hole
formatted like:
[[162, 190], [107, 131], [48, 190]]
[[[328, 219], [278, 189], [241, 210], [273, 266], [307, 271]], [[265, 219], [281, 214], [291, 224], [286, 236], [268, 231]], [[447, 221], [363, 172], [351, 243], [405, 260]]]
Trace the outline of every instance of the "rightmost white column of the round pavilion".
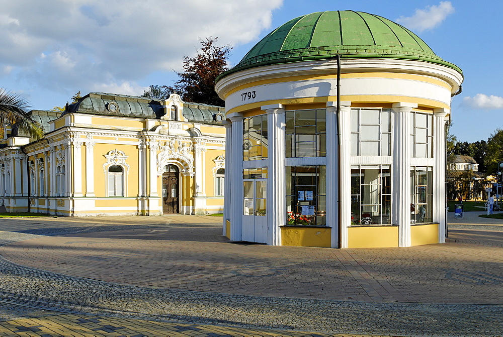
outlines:
[[439, 223], [439, 243], [445, 243], [445, 117], [449, 110], [434, 109], [433, 146], [435, 166], [433, 167], [433, 221]]

